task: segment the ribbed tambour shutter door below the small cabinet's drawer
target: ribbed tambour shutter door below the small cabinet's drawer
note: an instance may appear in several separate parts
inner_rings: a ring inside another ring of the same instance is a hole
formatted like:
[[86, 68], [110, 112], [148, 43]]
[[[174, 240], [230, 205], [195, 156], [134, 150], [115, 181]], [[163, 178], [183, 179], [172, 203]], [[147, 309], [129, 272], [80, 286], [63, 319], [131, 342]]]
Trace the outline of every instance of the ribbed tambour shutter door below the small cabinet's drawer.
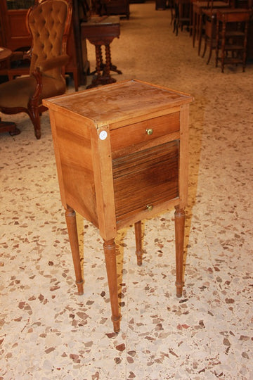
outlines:
[[117, 221], [179, 196], [179, 141], [112, 160]]

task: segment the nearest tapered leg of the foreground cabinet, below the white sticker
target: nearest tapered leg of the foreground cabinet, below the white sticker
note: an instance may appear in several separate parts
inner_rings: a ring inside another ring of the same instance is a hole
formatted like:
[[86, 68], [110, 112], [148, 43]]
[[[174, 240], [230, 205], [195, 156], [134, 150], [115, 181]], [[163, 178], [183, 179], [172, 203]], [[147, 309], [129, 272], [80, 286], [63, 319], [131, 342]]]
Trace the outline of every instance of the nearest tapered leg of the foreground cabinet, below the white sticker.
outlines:
[[104, 241], [103, 248], [105, 252], [105, 265], [108, 275], [108, 287], [110, 293], [110, 304], [112, 308], [112, 323], [116, 333], [119, 332], [119, 303], [117, 293], [117, 265], [116, 265], [116, 249], [114, 239]]

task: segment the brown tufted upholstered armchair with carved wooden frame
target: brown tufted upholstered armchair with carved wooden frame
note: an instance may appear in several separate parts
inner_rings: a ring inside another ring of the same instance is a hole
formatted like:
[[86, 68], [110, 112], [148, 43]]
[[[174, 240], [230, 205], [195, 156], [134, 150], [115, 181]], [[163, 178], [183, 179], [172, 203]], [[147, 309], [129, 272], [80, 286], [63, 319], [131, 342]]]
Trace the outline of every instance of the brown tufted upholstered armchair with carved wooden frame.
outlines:
[[[64, 66], [67, 35], [72, 15], [71, 0], [35, 0], [27, 12], [27, 27], [32, 35], [30, 75], [0, 85], [0, 111], [6, 114], [25, 112], [41, 137], [39, 116], [42, 99], [65, 93]], [[24, 58], [27, 58], [27, 54]]]

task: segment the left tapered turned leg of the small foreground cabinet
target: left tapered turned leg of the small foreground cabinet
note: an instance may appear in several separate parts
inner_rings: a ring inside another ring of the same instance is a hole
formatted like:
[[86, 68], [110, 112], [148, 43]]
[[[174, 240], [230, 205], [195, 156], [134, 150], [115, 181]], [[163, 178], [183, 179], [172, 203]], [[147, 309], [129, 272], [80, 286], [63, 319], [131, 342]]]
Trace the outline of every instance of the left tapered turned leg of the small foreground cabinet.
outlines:
[[67, 223], [67, 232], [70, 239], [70, 248], [72, 252], [72, 258], [74, 263], [74, 273], [76, 277], [78, 294], [84, 293], [84, 280], [82, 279], [82, 269], [79, 254], [79, 243], [77, 235], [77, 220], [74, 210], [67, 207], [65, 210], [65, 218]]

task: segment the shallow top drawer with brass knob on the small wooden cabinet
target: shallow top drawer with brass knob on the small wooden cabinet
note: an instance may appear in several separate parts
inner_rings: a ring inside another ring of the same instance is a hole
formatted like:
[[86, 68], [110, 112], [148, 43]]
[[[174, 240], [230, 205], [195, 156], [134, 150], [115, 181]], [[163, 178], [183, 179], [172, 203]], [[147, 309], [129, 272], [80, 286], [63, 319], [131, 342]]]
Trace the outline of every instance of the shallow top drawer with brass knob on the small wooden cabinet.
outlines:
[[112, 152], [179, 131], [179, 112], [127, 125], [110, 132]]

